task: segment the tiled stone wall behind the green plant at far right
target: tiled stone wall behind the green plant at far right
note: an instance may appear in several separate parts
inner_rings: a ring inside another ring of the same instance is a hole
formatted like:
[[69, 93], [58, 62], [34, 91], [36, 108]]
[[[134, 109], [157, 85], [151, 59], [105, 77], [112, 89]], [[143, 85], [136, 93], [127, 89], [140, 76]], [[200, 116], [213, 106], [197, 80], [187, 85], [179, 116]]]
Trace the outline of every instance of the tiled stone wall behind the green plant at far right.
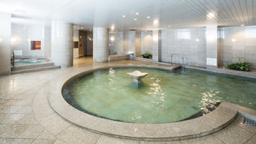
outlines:
[[220, 66], [247, 61], [256, 69], [256, 26], [222, 27], [218, 29], [220, 39]]

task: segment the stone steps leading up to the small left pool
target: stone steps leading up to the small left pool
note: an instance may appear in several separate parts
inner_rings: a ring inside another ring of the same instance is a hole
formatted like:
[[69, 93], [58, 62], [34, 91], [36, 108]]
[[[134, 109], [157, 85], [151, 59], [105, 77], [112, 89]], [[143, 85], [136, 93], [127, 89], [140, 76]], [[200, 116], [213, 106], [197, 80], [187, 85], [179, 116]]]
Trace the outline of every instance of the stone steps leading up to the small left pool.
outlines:
[[23, 66], [16, 66], [15, 70], [11, 67], [11, 75], [25, 73], [25, 72], [39, 72], [50, 69], [59, 69], [59, 66], [55, 66], [53, 62], [46, 62], [42, 64], [28, 64]]

